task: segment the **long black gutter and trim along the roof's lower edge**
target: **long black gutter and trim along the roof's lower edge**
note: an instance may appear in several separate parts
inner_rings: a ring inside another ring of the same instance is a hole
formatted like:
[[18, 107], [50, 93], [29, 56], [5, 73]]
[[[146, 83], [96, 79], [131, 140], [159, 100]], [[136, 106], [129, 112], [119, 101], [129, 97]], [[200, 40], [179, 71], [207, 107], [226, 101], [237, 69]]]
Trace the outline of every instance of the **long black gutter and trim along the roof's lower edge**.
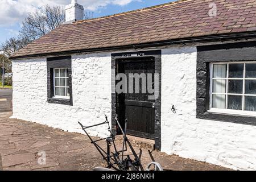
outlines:
[[116, 49], [123, 50], [123, 49], [159, 47], [159, 46], [168, 46], [172, 44], [224, 42], [229, 40], [237, 41], [242, 39], [253, 39], [253, 38], [256, 38], [256, 31], [236, 32], [232, 34], [228, 33], [228, 34], [219, 34], [219, 35], [197, 36], [191, 39], [188, 39], [188, 38], [172, 39], [172, 40], [164, 40], [159, 42], [131, 44], [127, 46], [81, 49], [81, 50], [72, 50], [72, 51], [63, 51], [63, 52], [51, 52], [51, 53], [39, 53], [39, 54], [26, 55], [26, 56], [11, 56], [10, 59], [23, 59], [23, 58], [43, 57], [43, 56], [53, 56], [53, 55], [60, 56], [60, 55], [67, 55], [67, 54], [73, 54], [73, 53], [112, 51]]

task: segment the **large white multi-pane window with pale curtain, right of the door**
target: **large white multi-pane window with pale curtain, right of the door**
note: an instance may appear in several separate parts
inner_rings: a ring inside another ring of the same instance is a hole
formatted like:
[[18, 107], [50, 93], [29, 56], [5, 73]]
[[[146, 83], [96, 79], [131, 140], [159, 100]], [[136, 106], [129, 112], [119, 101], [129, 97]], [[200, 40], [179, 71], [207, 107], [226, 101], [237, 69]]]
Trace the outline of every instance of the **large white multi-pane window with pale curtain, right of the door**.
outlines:
[[210, 64], [210, 110], [256, 115], [256, 63]]

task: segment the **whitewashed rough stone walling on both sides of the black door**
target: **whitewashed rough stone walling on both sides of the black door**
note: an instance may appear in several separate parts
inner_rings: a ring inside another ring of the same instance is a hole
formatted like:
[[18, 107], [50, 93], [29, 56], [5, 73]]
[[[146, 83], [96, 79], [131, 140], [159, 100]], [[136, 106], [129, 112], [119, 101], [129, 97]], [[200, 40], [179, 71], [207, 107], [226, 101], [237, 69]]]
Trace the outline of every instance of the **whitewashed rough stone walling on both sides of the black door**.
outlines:
[[[125, 51], [123, 51], [125, 52]], [[196, 47], [162, 49], [162, 151], [233, 169], [256, 169], [256, 127], [196, 119]], [[72, 55], [73, 106], [48, 104], [46, 58], [13, 61], [13, 118], [82, 133], [111, 121], [110, 53]], [[171, 107], [175, 105], [176, 114]], [[108, 135], [106, 126], [90, 130]]]

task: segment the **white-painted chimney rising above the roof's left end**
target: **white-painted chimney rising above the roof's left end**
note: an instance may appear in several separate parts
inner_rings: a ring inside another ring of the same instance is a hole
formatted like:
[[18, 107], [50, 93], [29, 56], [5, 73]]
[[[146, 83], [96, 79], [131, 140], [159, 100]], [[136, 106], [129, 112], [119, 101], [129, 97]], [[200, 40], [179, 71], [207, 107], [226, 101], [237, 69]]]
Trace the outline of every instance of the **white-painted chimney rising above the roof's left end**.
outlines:
[[76, 22], [84, 19], [84, 7], [77, 3], [77, 0], [72, 0], [70, 5], [65, 7], [66, 23]]

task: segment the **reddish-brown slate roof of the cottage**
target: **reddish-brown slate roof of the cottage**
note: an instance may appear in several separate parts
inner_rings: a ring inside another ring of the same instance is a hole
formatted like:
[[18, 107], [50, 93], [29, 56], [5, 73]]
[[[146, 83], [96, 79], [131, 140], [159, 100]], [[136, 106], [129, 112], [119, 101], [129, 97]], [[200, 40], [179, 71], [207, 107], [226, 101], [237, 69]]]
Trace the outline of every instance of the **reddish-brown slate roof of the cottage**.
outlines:
[[[209, 16], [211, 2], [217, 16]], [[256, 31], [256, 0], [187, 0], [63, 24], [13, 58]]]

